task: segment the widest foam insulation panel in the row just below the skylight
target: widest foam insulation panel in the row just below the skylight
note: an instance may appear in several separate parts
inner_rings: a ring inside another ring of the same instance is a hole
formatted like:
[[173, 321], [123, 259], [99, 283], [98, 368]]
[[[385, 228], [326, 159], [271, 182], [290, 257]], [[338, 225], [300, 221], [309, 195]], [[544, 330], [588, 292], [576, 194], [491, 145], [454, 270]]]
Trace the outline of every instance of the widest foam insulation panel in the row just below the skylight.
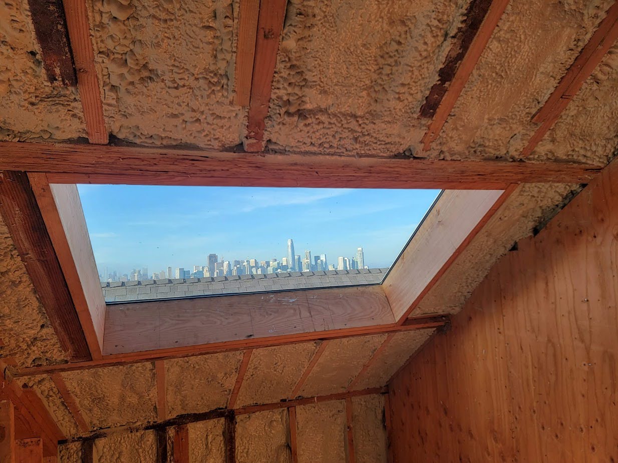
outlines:
[[155, 367], [151, 362], [60, 374], [93, 429], [156, 420]]

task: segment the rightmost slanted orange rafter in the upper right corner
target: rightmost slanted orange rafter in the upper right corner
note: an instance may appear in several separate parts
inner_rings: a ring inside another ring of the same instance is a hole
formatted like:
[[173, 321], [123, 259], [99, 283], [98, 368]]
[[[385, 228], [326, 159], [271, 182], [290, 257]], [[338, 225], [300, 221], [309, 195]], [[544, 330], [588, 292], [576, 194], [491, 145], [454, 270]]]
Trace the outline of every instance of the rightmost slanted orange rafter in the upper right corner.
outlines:
[[590, 77], [593, 70], [601, 62], [609, 48], [618, 38], [618, 2], [608, 10], [605, 18], [599, 23], [593, 36], [584, 46], [580, 54], [565, 73], [564, 77], [549, 96], [543, 107], [533, 116], [533, 122], [541, 123], [530, 141], [523, 149], [521, 157], [530, 156], [536, 145], [554, 125], [569, 102], [580, 91], [584, 81]]

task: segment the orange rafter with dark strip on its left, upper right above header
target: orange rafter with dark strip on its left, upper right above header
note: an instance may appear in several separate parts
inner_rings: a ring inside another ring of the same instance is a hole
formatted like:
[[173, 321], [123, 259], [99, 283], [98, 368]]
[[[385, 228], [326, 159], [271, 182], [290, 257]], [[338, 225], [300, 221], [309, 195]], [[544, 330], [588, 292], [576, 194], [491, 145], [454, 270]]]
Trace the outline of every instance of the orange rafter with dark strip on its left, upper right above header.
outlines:
[[476, 32], [472, 43], [470, 44], [468, 51], [465, 54], [464, 59], [457, 67], [457, 72], [453, 77], [448, 90], [444, 93], [438, 109], [435, 111], [433, 120], [431, 121], [425, 136], [423, 136], [423, 150], [428, 151], [431, 148], [431, 143], [438, 138], [447, 117], [451, 114], [455, 102], [459, 98], [459, 95], [464, 90], [470, 74], [478, 62], [485, 46], [489, 42], [489, 38], [493, 34], [497, 23], [502, 17], [502, 13], [509, 4], [509, 0], [493, 0], [481, 27]]

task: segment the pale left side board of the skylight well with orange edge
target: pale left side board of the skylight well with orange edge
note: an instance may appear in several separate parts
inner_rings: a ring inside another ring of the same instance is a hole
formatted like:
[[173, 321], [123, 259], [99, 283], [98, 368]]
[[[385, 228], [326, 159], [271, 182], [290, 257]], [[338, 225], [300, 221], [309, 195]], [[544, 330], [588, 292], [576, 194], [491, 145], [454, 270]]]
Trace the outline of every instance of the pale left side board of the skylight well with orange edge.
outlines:
[[100, 359], [106, 306], [77, 187], [49, 185], [44, 173], [29, 173], [28, 179], [74, 301], [90, 354], [93, 359]]

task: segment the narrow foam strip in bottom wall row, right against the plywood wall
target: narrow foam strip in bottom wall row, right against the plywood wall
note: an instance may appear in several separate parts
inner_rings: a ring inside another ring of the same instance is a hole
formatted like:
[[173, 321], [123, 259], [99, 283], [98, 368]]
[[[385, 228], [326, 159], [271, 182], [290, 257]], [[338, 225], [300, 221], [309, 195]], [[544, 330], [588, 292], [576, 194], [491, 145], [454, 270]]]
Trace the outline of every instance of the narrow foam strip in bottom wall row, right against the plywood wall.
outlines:
[[352, 398], [352, 433], [356, 463], [386, 463], [384, 397], [380, 394]]

